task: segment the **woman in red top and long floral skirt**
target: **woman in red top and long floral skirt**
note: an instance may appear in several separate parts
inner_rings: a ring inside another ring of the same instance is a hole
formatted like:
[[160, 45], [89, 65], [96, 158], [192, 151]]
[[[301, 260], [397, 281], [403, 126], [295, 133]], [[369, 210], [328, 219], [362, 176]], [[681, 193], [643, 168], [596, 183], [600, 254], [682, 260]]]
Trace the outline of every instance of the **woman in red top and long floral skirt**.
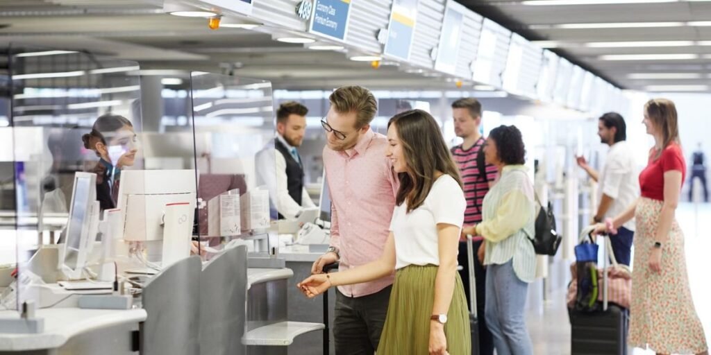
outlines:
[[632, 304], [629, 343], [657, 354], [708, 354], [706, 337], [696, 314], [684, 256], [684, 235], [674, 217], [686, 164], [681, 151], [677, 114], [668, 99], [644, 105], [647, 133], [655, 145], [639, 175], [641, 197], [598, 233], [635, 218]]

